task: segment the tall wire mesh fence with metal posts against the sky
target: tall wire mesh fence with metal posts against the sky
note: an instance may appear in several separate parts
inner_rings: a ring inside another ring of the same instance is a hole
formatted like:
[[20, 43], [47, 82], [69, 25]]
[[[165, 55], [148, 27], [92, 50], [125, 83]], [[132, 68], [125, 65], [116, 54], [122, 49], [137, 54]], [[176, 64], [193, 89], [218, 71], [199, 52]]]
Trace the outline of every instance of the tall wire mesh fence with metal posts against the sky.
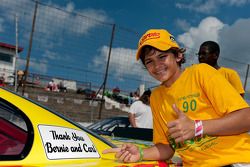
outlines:
[[[89, 11], [91, 12], [91, 11]], [[22, 47], [16, 69], [29, 74], [89, 83], [99, 90], [118, 86], [129, 94], [159, 84], [135, 61], [140, 34], [95, 18], [33, 0], [0, 0], [0, 42]], [[187, 63], [197, 63], [196, 49], [187, 49]], [[220, 58], [237, 70], [250, 99], [247, 63]], [[242, 68], [244, 66], [244, 68]], [[241, 67], [241, 68], [238, 68]], [[239, 71], [239, 69], [242, 69]], [[45, 84], [45, 83], [44, 83]]]

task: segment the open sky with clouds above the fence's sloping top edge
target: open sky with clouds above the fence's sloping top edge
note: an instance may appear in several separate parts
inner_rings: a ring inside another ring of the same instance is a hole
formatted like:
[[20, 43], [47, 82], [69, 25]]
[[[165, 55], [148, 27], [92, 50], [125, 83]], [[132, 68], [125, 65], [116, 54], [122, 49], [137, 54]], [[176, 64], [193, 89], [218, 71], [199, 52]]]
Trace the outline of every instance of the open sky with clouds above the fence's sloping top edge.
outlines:
[[[143, 34], [169, 30], [184, 47], [198, 49], [205, 40], [219, 42], [222, 57], [250, 63], [250, 0], [49, 0], [68, 10]], [[88, 14], [91, 17], [90, 14]], [[231, 41], [231, 42], [230, 42]], [[241, 57], [239, 57], [239, 49]]]

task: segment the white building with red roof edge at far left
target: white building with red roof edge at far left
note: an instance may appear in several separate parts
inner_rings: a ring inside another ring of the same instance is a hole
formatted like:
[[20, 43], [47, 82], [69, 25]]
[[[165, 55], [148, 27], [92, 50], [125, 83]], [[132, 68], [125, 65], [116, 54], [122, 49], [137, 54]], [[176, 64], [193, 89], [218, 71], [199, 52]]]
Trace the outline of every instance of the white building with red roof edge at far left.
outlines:
[[[18, 47], [18, 53], [23, 48]], [[16, 46], [0, 42], [0, 77], [7, 84], [14, 82]]]

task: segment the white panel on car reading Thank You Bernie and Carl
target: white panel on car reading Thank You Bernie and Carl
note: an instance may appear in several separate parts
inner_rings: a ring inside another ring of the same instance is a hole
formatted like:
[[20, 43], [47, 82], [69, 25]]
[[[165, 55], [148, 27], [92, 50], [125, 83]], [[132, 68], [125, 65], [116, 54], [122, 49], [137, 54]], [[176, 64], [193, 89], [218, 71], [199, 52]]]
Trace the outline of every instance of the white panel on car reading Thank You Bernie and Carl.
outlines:
[[50, 125], [38, 125], [48, 159], [99, 158], [86, 132]]

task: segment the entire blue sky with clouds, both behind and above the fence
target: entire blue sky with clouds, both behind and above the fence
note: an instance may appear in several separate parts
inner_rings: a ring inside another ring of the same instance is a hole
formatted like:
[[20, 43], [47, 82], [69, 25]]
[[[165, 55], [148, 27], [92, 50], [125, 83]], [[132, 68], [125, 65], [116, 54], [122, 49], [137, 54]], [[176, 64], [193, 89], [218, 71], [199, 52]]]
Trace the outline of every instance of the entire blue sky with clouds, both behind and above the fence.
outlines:
[[[25, 58], [33, 14], [33, 11], [27, 10], [34, 9], [34, 1], [0, 0], [0, 2], [0, 40], [14, 44], [15, 38], [11, 36], [14, 30], [10, 27], [14, 28], [14, 13], [19, 13], [20, 27], [23, 28], [19, 38], [20, 44], [24, 47], [20, 56]], [[222, 61], [221, 64], [237, 69], [243, 79], [246, 64], [250, 64], [250, 0], [40, 0], [40, 2], [104, 23], [115, 23], [119, 27], [134, 30], [140, 35], [151, 28], [167, 29], [181, 46], [187, 48], [187, 52], [192, 52], [192, 55], [198, 51], [202, 42], [217, 41], [221, 46], [222, 58], [240, 62]], [[79, 79], [79, 76], [82, 76], [81, 71], [85, 71], [84, 76], [86, 75], [87, 78], [90, 78], [90, 74], [86, 71], [97, 69], [99, 71], [94, 72], [105, 71], [103, 60], [108, 55], [110, 29], [98, 29], [97, 24], [90, 24], [90, 22], [86, 24], [81, 20], [82, 18], [66, 16], [65, 12], [59, 10], [51, 11], [46, 5], [39, 8], [36, 40], [32, 48], [32, 59], [35, 61], [31, 62], [30, 69], [33, 72], [52, 76], [62, 73], [63, 77], [71, 77], [69, 79]], [[28, 12], [30, 13], [27, 14]], [[7, 26], [8, 24], [10, 26]], [[107, 32], [102, 32], [103, 30]], [[100, 33], [99, 37], [104, 41], [93, 40], [93, 43], [86, 45], [87, 50], [84, 48], [84, 53], [79, 53], [81, 51], [78, 49], [85, 47], [79, 44], [89, 39], [86, 33], [89, 31]], [[106, 38], [104, 38], [105, 35]], [[121, 46], [119, 42], [115, 43], [112, 49], [110, 74], [116, 78], [116, 81], [121, 81], [120, 87], [128, 87], [130, 82], [129, 79], [125, 81], [121, 76], [133, 75], [135, 78], [142, 78], [145, 74], [145, 70], [135, 65], [134, 55], [139, 39], [136, 37], [133, 39], [133, 42], [123, 43]], [[90, 46], [94, 49], [88, 48]], [[121, 63], [122, 57], [126, 57], [126, 63]], [[64, 68], [68, 71], [61, 71], [58, 66], [53, 66], [54, 62], [58, 62], [60, 66], [66, 64]], [[188, 64], [196, 62], [197, 57], [188, 57]], [[24, 64], [25, 62], [19, 62], [19, 65]], [[94, 78], [99, 78], [97, 85], [100, 85], [103, 77], [97, 74]], [[145, 80], [152, 79], [145, 78]], [[250, 89], [250, 79], [248, 81], [248, 89]], [[135, 85], [137, 86], [138, 83]]]

